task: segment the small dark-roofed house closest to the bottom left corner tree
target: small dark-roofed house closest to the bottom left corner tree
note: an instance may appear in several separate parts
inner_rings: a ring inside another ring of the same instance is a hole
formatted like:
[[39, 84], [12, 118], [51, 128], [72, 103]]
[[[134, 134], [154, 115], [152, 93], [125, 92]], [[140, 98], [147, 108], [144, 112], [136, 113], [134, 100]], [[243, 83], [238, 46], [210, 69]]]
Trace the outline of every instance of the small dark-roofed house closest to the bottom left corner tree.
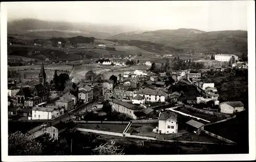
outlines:
[[58, 136], [60, 133], [68, 130], [68, 129], [72, 129], [75, 127], [75, 123], [73, 122], [69, 122], [69, 123], [65, 123], [60, 121], [59, 123], [56, 123], [54, 125], [51, 125], [50, 127], [46, 128], [46, 133], [49, 134], [49, 136], [51, 138], [53, 138], [53, 140], [58, 140]]

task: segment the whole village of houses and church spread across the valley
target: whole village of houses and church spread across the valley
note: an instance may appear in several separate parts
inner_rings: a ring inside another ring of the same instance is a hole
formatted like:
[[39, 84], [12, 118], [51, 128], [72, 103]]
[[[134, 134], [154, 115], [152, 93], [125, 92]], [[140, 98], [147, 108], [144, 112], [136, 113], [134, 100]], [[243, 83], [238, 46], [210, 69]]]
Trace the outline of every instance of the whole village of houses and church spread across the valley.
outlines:
[[[209, 73], [248, 68], [247, 63], [238, 62], [237, 56], [215, 56], [219, 62], [230, 58], [236, 59], [231, 67], [212, 66]], [[111, 64], [102, 60], [98, 63]], [[38, 82], [17, 85], [14, 79], [8, 83], [9, 122], [33, 123], [34, 127], [26, 130], [33, 138], [48, 134], [58, 140], [61, 133], [76, 129], [166, 143], [237, 145], [237, 134], [221, 131], [225, 128], [218, 131], [215, 125], [234, 121], [248, 111], [244, 103], [220, 102], [215, 83], [203, 81], [207, 73], [202, 71], [166, 70], [157, 74], [151, 68], [153, 62], [143, 64], [150, 68], [112, 75], [109, 80], [99, 79], [92, 71], [79, 82], [67, 75], [70, 78], [57, 90], [56, 77], [56, 85], [46, 84], [42, 63]]]

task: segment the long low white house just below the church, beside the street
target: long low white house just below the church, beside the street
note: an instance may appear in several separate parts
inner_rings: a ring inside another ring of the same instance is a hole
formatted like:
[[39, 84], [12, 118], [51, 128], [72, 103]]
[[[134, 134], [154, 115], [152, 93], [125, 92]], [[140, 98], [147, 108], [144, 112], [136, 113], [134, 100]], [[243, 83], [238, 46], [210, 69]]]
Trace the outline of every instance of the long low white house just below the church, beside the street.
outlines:
[[51, 120], [64, 113], [64, 108], [59, 106], [33, 107], [32, 120]]

